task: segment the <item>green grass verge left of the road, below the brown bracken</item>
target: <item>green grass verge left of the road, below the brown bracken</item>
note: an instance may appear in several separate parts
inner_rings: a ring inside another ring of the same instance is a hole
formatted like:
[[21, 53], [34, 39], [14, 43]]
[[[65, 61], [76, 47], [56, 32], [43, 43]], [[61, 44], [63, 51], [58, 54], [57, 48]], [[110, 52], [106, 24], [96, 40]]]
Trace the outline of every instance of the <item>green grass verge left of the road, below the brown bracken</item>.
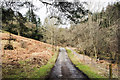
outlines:
[[52, 56], [52, 58], [47, 62], [46, 65], [42, 65], [40, 68], [31, 67], [29, 64], [30, 60], [19, 61], [19, 68], [10, 68], [9, 66], [2, 69], [3, 78], [14, 78], [19, 80], [20, 78], [32, 78], [44, 79], [52, 69], [57, 59], [58, 52]]

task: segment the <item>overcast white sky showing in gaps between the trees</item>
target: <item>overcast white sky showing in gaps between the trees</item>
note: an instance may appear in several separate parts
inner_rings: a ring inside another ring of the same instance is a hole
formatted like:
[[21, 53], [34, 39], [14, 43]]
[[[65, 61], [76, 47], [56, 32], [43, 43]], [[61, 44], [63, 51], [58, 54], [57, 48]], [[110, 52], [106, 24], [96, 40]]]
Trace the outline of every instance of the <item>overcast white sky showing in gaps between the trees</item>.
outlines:
[[[40, 8], [39, 10], [35, 11], [35, 14], [40, 17], [42, 24], [44, 23], [44, 19], [46, 18], [47, 14], [47, 10], [46, 10], [46, 6], [44, 6], [39, 0], [28, 0], [28, 1], [32, 1], [33, 4]], [[45, 1], [45, 0], [44, 0]], [[47, 0], [46, 0], [47, 1]], [[73, 0], [69, 0], [69, 1], [73, 1]], [[77, 0], [76, 0], [77, 1]], [[80, 2], [86, 1], [89, 3], [89, 6], [87, 7], [88, 9], [90, 9], [92, 12], [96, 12], [96, 11], [100, 11], [102, 10], [102, 8], [106, 7], [108, 5], [108, 3], [113, 3], [113, 2], [117, 2], [120, 0], [79, 0]], [[26, 12], [28, 11], [28, 8], [22, 8], [20, 10], [20, 12], [25, 15]], [[64, 25], [65, 26], [70, 26], [70, 25]]]

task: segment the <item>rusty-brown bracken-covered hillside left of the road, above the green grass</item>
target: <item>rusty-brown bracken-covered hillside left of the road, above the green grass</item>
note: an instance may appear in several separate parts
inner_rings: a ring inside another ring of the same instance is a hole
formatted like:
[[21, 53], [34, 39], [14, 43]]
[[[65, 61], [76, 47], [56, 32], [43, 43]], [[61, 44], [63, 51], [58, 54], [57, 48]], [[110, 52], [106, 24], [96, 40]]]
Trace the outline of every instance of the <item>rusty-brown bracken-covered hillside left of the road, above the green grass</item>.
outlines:
[[[21, 70], [19, 71], [24, 72], [26, 63], [31, 69], [34, 67], [39, 68], [45, 65], [54, 54], [50, 44], [14, 34], [10, 36], [9, 33], [0, 33], [0, 35], [2, 44], [3, 77], [7, 76], [8, 72], [9, 75], [16, 74], [13, 73], [16, 71], [14, 69], [20, 68]], [[13, 50], [4, 49], [8, 44], [13, 46]], [[29, 71], [29, 69], [27, 69], [27, 71]]]

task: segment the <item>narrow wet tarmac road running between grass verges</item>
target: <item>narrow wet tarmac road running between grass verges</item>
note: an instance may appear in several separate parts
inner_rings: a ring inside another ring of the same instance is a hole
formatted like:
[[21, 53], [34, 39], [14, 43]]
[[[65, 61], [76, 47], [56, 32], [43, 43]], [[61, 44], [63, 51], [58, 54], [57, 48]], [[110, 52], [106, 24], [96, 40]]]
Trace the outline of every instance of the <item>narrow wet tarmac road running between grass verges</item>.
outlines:
[[77, 69], [70, 61], [64, 48], [60, 48], [57, 61], [52, 68], [47, 80], [89, 80], [88, 77]]

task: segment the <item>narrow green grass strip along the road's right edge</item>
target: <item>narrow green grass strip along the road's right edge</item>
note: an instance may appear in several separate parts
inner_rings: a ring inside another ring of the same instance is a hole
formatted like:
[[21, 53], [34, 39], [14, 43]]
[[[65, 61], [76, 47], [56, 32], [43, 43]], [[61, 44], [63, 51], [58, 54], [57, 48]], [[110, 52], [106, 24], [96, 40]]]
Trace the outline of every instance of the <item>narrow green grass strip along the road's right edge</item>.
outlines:
[[81, 71], [83, 71], [89, 78], [91, 79], [102, 79], [105, 78], [101, 75], [99, 75], [97, 72], [95, 72], [95, 70], [93, 70], [90, 66], [88, 65], [84, 65], [82, 63], [80, 63], [74, 56], [74, 54], [72, 54], [71, 50], [66, 49], [68, 56], [70, 57], [71, 61], [73, 62], [73, 64], [75, 64], [76, 67], [78, 67]]

